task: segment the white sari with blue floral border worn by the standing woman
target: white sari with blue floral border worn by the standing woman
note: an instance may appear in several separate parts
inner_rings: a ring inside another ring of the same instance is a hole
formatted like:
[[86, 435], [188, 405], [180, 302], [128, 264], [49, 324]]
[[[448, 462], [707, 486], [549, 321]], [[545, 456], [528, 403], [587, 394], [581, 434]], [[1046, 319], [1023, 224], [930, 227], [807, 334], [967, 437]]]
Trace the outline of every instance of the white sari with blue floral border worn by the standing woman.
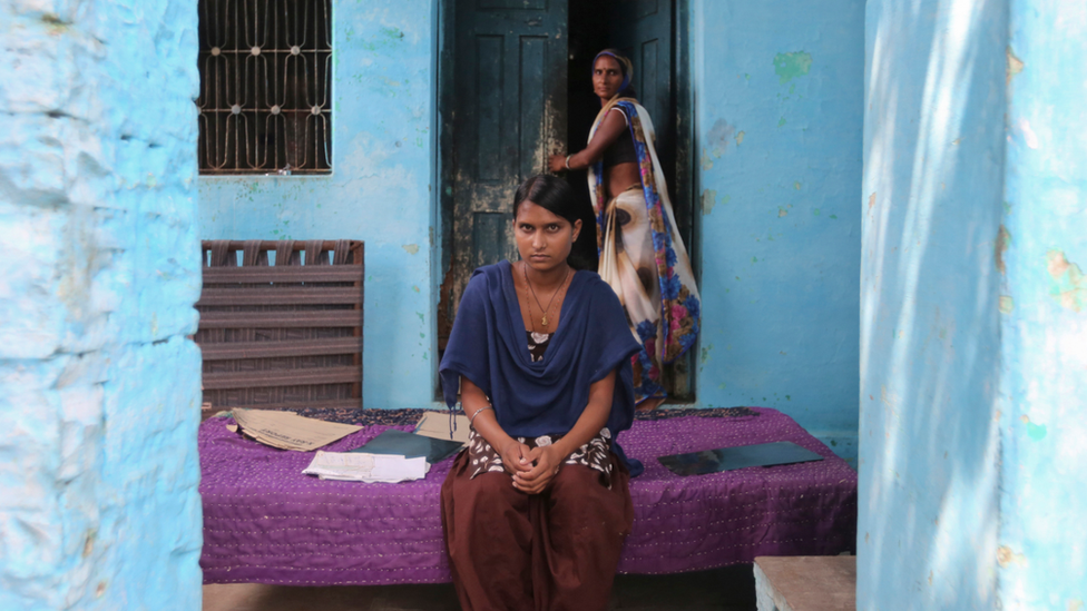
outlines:
[[600, 277], [619, 296], [630, 333], [642, 344], [642, 351], [633, 357], [634, 391], [642, 403], [667, 395], [662, 385], [662, 365], [674, 362], [694, 345], [702, 307], [653, 146], [656, 134], [648, 112], [633, 98], [615, 98], [597, 115], [589, 141], [615, 107], [628, 118], [642, 188], [616, 194], [607, 201], [601, 160], [589, 167], [589, 195], [596, 211]]

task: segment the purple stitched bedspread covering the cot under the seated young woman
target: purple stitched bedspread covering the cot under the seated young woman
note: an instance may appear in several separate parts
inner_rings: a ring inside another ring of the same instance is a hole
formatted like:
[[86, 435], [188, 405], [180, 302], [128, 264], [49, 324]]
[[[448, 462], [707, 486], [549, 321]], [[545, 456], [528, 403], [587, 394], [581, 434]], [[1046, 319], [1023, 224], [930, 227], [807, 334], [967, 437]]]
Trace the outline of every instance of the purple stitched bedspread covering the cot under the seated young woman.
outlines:
[[[619, 572], [697, 571], [756, 555], [853, 550], [856, 473], [789, 416], [765, 407], [744, 413], [750, 415], [639, 420], [620, 435], [646, 471], [630, 482], [634, 531]], [[227, 422], [210, 418], [199, 431], [205, 583], [450, 580], [439, 489], [452, 459], [418, 482], [323, 481], [302, 475], [312, 454], [242, 438], [226, 430]], [[359, 447], [385, 428], [366, 426], [326, 450]], [[773, 441], [794, 442], [826, 460], [679, 477], [655, 459]]]

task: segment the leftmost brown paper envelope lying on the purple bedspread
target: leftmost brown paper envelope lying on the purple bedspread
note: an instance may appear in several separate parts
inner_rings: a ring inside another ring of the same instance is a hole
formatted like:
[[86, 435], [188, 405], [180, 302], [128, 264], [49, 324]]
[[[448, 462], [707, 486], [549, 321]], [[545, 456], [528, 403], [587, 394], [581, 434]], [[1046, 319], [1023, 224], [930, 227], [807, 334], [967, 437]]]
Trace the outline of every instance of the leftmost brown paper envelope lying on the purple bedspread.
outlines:
[[295, 452], [310, 452], [362, 431], [362, 426], [307, 418], [294, 412], [235, 407], [232, 414], [246, 435], [265, 445]]

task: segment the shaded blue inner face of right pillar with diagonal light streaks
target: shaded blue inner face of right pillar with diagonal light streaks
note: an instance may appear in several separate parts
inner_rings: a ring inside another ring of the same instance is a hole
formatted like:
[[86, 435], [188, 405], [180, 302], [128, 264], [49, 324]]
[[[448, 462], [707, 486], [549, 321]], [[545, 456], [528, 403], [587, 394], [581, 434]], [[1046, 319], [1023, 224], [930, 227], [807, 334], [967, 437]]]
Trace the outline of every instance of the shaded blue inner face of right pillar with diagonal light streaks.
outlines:
[[999, 602], [1007, 28], [868, 4], [858, 609]]

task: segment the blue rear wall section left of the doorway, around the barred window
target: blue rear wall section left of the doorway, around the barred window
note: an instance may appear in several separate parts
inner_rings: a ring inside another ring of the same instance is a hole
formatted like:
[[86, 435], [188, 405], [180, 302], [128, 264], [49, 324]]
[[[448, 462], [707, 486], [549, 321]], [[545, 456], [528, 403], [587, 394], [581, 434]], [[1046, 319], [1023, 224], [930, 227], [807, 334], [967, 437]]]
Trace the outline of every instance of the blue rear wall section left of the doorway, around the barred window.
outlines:
[[333, 2], [333, 174], [199, 178], [203, 239], [366, 243], [366, 407], [434, 401], [437, 2]]

